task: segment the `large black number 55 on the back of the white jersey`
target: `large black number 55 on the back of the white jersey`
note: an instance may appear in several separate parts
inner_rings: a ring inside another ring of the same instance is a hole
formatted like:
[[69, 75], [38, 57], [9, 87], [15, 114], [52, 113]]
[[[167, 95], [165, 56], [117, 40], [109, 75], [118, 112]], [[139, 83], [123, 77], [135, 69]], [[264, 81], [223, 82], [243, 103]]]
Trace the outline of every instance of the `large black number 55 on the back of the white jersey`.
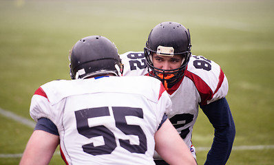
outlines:
[[[129, 140], [118, 139], [120, 146], [125, 148], [131, 153], [145, 153], [147, 151], [147, 137], [145, 133], [138, 125], [127, 124], [125, 116], [131, 115], [138, 118], [143, 118], [143, 110], [140, 108], [131, 108], [131, 107], [112, 107], [114, 113], [114, 120], [116, 127], [120, 129], [125, 135], [136, 135], [139, 138], [139, 145], [130, 144]], [[76, 124], [78, 133], [81, 135], [92, 138], [103, 136], [105, 145], [103, 146], [94, 146], [93, 143], [85, 144], [82, 146], [85, 153], [91, 155], [104, 155], [110, 154], [117, 147], [116, 137], [114, 133], [106, 126], [91, 126], [89, 127], [88, 119], [89, 118], [98, 118], [101, 116], [108, 116], [109, 108], [108, 107], [98, 107], [92, 109], [81, 109], [75, 111]]]

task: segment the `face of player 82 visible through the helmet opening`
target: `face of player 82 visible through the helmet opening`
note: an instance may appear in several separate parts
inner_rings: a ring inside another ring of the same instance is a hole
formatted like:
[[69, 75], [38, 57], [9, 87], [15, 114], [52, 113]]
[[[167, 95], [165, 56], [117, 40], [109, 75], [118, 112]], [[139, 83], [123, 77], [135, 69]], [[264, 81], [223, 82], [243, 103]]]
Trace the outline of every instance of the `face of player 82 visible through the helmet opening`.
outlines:
[[182, 65], [182, 56], [162, 56], [154, 53], [152, 55], [152, 62], [154, 64], [154, 67], [159, 69], [177, 69]]

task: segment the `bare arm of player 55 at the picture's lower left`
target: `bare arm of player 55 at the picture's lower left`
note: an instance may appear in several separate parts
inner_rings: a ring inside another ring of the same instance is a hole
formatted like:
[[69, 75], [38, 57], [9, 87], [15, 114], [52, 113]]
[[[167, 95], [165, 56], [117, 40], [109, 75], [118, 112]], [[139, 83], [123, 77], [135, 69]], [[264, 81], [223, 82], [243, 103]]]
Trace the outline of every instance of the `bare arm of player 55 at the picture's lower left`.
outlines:
[[20, 165], [49, 164], [58, 144], [58, 135], [42, 130], [35, 130], [28, 141]]

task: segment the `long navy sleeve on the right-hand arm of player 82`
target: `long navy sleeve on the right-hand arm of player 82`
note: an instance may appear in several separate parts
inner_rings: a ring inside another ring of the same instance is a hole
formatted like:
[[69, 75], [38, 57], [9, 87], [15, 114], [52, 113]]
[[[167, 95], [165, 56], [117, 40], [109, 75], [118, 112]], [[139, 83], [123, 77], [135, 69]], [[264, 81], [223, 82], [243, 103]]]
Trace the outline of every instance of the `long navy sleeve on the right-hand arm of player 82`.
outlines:
[[226, 98], [200, 106], [213, 125], [214, 139], [205, 164], [226, 164], [235, 138], [235, 124]]

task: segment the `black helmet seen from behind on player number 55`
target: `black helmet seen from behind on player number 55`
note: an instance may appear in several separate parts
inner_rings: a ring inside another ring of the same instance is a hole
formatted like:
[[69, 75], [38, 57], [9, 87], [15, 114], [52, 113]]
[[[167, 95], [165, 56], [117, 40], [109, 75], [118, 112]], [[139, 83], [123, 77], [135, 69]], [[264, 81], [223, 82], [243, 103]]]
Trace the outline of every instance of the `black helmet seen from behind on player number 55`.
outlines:
[[120, 76], [123, 65], [114, 43], [104, 36], [87, 36], [70, 50], [72, 79], [114, 74]]

